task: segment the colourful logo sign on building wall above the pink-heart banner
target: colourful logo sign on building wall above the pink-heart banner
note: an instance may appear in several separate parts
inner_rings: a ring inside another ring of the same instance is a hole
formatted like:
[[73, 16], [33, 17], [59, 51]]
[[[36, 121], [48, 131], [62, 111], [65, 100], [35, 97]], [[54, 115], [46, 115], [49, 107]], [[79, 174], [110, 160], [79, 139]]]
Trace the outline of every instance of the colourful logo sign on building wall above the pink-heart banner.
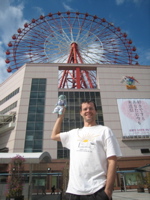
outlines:
[[126, 83], [127, 89], [136, 89], [135, 82], [138, 83], [138, 81], [133, 76], [123, 76], [121, 79], [121, 83]]

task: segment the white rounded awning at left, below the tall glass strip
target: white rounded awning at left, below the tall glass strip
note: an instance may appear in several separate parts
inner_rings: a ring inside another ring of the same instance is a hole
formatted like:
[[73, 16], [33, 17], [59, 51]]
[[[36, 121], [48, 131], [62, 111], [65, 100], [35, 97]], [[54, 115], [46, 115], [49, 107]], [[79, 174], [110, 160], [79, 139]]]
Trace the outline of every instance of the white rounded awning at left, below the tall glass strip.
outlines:
[[0, 164], [8, 164], [15, 156], [20, 155], [25, 159], [25, 163], [49, 163], [51, 162], [51, 156], [48, 152], [40, 153], [0, 153]]

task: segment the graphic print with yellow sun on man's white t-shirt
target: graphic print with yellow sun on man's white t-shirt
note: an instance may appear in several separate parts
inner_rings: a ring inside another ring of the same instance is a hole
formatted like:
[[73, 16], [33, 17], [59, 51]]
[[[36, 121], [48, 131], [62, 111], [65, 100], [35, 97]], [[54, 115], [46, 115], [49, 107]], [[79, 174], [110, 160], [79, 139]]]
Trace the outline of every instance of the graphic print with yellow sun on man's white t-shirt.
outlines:
[[82, 151], [82, 152], [92, 152], [92, 150], [95, 148], [95, 138], [98, 137], [99, 135], [90, 133], [90, 132], [85, 132], [82, 134], [78, 133], [78, 146], [77, 146], [77, 151]]

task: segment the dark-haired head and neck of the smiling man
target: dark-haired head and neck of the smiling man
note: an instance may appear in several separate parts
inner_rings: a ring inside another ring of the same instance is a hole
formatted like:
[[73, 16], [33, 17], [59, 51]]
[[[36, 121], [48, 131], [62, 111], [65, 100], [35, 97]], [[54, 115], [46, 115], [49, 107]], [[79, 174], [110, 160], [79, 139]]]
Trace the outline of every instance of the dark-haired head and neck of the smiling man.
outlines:
[[97, 108], [94, 101], [88, 100], [81, 103], [80, 115], [83, 117], [84, 126], [96, 125]]

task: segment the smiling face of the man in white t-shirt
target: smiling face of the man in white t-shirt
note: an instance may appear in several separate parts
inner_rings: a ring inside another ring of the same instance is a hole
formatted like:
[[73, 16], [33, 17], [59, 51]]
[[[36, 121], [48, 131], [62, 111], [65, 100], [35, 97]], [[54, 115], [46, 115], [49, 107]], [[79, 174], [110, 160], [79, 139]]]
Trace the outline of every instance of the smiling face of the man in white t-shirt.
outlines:
[[85, 122], [95, 123], [97, 111], [95, 110], [94, 104], [91, 103], [82, 103], [82, 110], [80, 115], [83, 117]]

